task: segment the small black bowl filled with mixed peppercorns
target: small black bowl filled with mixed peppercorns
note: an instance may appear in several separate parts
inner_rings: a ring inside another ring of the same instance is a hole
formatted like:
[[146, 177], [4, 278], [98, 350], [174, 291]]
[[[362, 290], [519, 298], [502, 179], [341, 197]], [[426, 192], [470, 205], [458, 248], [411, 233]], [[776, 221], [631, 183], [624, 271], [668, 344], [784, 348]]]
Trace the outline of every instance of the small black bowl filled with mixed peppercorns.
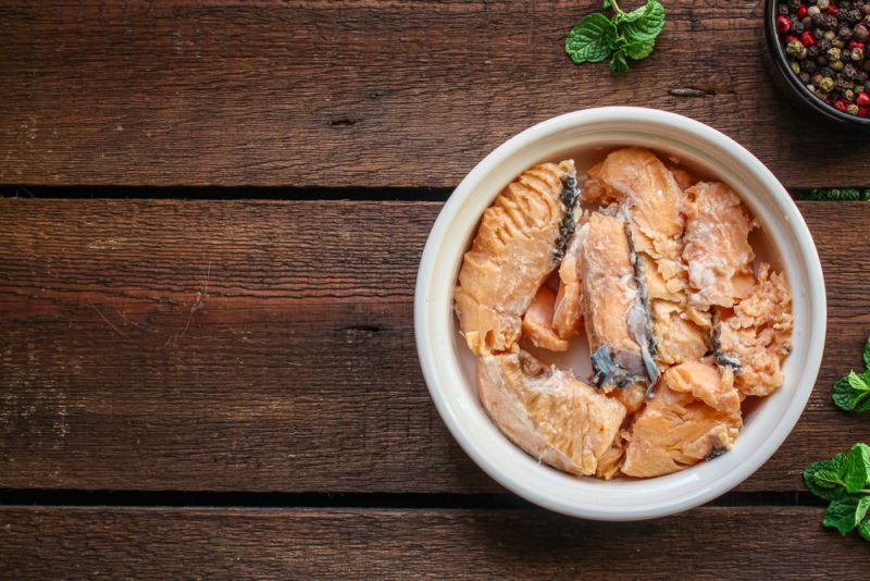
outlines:
[[765, 35], [782, 90], [870, 131], [870, 0], [767, 0]]

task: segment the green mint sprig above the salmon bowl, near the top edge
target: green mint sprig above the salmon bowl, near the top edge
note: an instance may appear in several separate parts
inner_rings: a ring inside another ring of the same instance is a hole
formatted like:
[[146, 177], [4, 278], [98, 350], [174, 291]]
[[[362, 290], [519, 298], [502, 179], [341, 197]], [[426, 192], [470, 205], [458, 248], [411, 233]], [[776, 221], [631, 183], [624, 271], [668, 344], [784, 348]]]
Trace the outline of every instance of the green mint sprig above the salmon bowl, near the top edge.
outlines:
[[576, 64], [601, 62], [610, 58], [610, 70], [619, 76], [629, 70], [629, 59], [641, 61], [656, 48], [656, 38], [664, 27], [664, 8], [648, 0], [638, 9], [625, 12], [617, 0], [604, 0], [605, 10], [581, 20], [564, 39], [564, 50]]

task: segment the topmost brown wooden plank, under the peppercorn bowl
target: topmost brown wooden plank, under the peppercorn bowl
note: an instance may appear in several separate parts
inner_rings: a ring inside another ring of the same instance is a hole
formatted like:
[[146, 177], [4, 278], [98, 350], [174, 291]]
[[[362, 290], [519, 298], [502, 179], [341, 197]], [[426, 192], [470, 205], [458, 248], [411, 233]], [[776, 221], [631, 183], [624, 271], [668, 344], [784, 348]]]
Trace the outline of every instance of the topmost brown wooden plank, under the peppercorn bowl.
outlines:
[[774, 92], [763, 2], [669, 1], [619, 79], [564, 54], [599, 4], [7, 1], [0, 183], [452, 186], [534, 123], [635, 104], [724, 131], [790, 187], [870, 186], [868, 137]]

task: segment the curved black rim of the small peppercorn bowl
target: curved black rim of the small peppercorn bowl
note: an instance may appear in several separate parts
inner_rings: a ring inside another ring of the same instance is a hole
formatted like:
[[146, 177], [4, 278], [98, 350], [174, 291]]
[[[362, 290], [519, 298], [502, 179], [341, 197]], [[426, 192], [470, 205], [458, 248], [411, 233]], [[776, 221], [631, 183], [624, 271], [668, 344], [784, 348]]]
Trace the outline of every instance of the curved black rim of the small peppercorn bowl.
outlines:
[[766, 0], [765, 2], [765, 38], [768, 50], [763, 51], [763, 54], [768, 73], [774, 85], [783, 94], [791, 97], [793, 101], [821, 115], [822, 119], [829, 122], [836, 123], [841, 127], [848, 125], [849, 127], [858, 127], [870, 132], [870, 118], [850, 115], [825, 103], [813, 95], [788, 66], [788, 60], [776, 33], [778, 3], [778, 0]]

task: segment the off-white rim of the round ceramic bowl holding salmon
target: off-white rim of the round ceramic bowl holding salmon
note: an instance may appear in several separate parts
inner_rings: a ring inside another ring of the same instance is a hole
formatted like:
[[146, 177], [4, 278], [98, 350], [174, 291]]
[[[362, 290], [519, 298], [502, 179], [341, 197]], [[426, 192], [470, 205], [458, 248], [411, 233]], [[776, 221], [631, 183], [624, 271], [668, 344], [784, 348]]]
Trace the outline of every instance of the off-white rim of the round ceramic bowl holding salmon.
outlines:
[[[808, 308], [810, 309], [810, 316], [807, 321], [807, 327], [810, 331], [807, 338], [808, 345], [816, 345], [817, 347], [820, 345], [823, 348], [826, 329], [826, 297], [821, 263], [815, 243], [812, 242], [809, 228], [797, 209], [797, 206], [794, 203], [791, 196], [788, 196], [785, 188], [776, 181], [770, 170], [733, 139], [712, 127], [683, 115], [637, 107], [604, 107], [566, 113], [538, 123], [511, 137], [493, 150], [469, 172], [447, 200], [432, 227], [420, 261], [414, 292], [414, 336], [418, 356], [424, 380], [432, 399], [435, 403], [435, 407], [448, 430], [464, 452], [490, 478], [506, 489], [538, 506], [568, 516], [594, 520], [624, 521], [658, 518], [687, 510], [724, 494], [758, 470], [767, 462], [770, 456], [779, 449], [803, 413], [812, 392], [816, 378], [818, 376], [822, 349], [817, 348], [809, 351], [807, 359], [803, 363], [803, 374], [795, 380], [796, 387], [791, 394], [791, 398], [785, 401], [782, 416], [778, 422], [772, 425], [769, 437], [765, 442], [763, 449], [754, 449], [748, 453], [746, 459], [733, 467], [733, 469], [723, 474], [722, 478], [706, 483], [704, 486], [700, 486], [699, 490], [693, 489], [692, 493], [685, 497], [673, 498], [649, 506], [633, 506], [619, 509], [601, 508], [595, 506], [594, 502], [583, 498], [572, 498], [571, 500], [554, 498], [540, 492], [532, 483], [520, 482], [519, 479], [515, 478], [515, 474], [509, 474], [508, 468], [513, 461], [510, 458], [488, 457], [478, 449], [478, 446], [485, 446], [486, 444], [475, 443], [475, 437], [480, 438], [482, 436], [475, 436], [470, 433], [467, 427], [462, 424], [460, 416], [467, 413], [467, 411], [463, 411], [463, 404], [461, 401], [448, 400], [442, 393], [439, 382], [444, 379], [442, 376], [442, 368], [445, 366], [440, 364], [440, 361], [434, 353], [434, 346], [439, 341], [449, 339], [449, 337], [434, 337], [435, 341], [433, 341], [432, 327], [435, 325], [431, 319], [433, 319], [434, 314], [431, 312], [432, 309], [430, 309], [430, 295], [432, 294], [432, 285], [434, 284], [432, 274], [436, 268], [440, 246], [445, 242], [447, 230], [461, 212], [463, 205], [473, 195], [473, 186], [483, 181], [489, 173], [497, 169], [499, 164], [511, 158], [511, 156], [514, 156], [531, 144], [558, 135], [566, 129], [576, 129], [579, 126], [586, 124], [616, 120], [622, 123], [632, 123], [636, 121], [662, 127], [679, 127], [680, 131], [697, 136], [699, 139], [711, 144], [720, 151], [728, 151], [731, 157], [738, 158], [743, 166], [750, 171], [754, 177], [765, 183], [767, 189], [766, 194], [772, 196], [774, 206], [778, 210], [783, 212], [784, 220], [788, 224], [786, 230], [790, 234], [794, 235], [797, 246], [795, 252], [800, 257], [803, 265], [807, 270], [807, 283], [810, 286], [810, 288], [808, 288], [809, 296], [807, 299], [809, 301]], [[490, 201], [492, 200], [489, 200], [489, 202]], [[487, 202], [487, 206], [489, 202]], [[480, 217], [475, 217], [474, 220], [476, 223]], [[497, 430], [492, 422], [489, 423], [493, 430]], [[526, 456], [519, 447], [515, 447], [515, 450], [520, 455]], [[719, 461], [719, 459], [717, 461]], [[678, 473], [685, 472], [686, 471]], [[646, 479], [641, 482], [655, 482], [661, 478], [668, 477]], [[613, 481], [605, 484], [611, 484], [612, 482]], [[688, 485], [686, 484], [686, 486]]]

